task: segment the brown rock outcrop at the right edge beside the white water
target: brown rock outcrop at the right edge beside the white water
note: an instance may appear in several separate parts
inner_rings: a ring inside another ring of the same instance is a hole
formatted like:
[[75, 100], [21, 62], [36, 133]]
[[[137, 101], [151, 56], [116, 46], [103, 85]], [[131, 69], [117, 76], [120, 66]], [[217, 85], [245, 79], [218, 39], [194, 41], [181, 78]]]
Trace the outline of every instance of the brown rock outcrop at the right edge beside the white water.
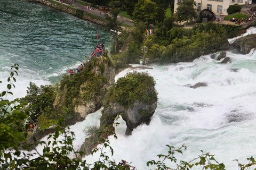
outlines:
[[251, 49], [256, 48], [256, 35], [248, 35], [241, 37], [232, 44], [235, 47], [240, 48], [240, 52], [244, 54], [250, 53]]

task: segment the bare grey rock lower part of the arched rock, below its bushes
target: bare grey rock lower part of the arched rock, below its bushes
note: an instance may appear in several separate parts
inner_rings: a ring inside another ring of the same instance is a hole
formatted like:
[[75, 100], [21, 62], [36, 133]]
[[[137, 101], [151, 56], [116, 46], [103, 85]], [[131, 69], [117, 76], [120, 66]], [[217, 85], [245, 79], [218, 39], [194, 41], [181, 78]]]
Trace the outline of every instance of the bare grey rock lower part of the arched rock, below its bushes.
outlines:
[[[118, 103], [111, 103], [107, 108], [105, 108], [104, 115], [107, 117], [116, 117], [118, 114], [122, 114], [123, 120], [126, 123], [126, 135], [131, 135], [133, 129], [137, 128], [140, 124], [149, 124], [150, 117], [155, 113], [157, 107], [157, 101], [153, 104], [145, 104], [140, 101], [135, 101], [133, 105], [129, 108], [125, 108]], [[113, 119], [105, 119], [101, 124], [107, 123], [112, 124]]]

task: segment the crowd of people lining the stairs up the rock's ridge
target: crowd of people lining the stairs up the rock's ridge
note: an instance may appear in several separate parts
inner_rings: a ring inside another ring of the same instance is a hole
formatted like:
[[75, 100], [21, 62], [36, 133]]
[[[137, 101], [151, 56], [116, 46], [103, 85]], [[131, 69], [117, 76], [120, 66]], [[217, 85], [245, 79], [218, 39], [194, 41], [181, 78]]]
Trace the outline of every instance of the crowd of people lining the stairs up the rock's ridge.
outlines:
[[90, 61], [93, 59], [94, 56], [101, 56], [105, 51], [105, 44], [102, 43], [102, 44], [98, 44], [97, 47], [94, 48], [91, 56], [87, 59], [86, 62], [83, 62], [81, 64], [79, 64], [77, 66], [76, 69], [69, 69], [69, 75], [70, 75], [70, 78], [74, 75], [74, 74], [79, 74], [83, 69], [84, 67], [90, 63]]

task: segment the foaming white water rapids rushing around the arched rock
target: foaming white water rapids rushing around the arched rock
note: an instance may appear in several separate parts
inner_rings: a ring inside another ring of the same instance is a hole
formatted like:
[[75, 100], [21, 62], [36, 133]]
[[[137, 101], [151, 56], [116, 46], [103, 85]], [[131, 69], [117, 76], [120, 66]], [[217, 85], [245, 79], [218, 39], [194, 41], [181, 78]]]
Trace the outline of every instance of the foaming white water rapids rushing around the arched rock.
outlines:
[[[158, 160], [158, 154], [167, 155], [165, 145], [182, 144], [188, 147], [187, 151], [177, 158], [189, 161], [203, 150], [230, 170], [237, 168], [234, 159], [247, 163], [247, 157], [255, 156], [256, 53], [227, 52], [227, 56], [232, 59], [230, 64], [221, 64], [206, 55], [191, 63], [150, 65], [153, 69], [147, 72], [156, 80], [159, 98], [156, 112], [149, 125], [139, 126], [129, 137], [124, 135], [125, 122], [119, 120], [118, 139], [109, 137], [114, 149], [111, 159], [124, 159], [137, 169], [149, 169], [149, 160]], [[132, 70], [119, 73], [116, 80], [129, 71]], [[198, 82], [208, 86], [186, 86]], [[99, 117], [100, 111], [71, 126], [77, 138], [76, 149], [85, 139], [85, 126], [99, 124]], [[111, 156], [110, 151], [107, 154]], [[92, 164], [99, 159], [99, 153], [84, 159]]]

